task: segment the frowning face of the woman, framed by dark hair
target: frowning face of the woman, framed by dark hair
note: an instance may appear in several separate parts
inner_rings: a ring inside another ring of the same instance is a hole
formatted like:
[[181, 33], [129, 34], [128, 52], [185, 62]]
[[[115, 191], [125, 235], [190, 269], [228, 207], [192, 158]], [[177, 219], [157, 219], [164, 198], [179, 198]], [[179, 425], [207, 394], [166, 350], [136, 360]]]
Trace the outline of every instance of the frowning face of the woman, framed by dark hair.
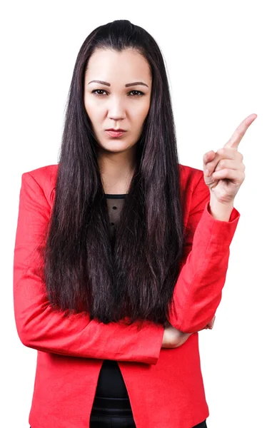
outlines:
[[[89, 58], [84, 105], [103, 151], [120, 153], [136, 144], [150, 106], [151, 83], [148, 62], [133, 49], [96, 50]], [[112, 137], [106, 133], [109, 128], [126, 132]]]

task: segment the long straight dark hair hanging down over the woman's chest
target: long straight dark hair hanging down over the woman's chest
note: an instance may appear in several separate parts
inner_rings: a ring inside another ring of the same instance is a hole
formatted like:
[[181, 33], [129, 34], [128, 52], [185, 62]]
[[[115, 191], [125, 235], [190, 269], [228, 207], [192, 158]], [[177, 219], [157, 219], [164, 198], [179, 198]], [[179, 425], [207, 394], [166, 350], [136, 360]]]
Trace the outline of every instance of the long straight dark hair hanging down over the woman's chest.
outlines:
[[[84, 107], [86, 65], [99, 48], [136, 49], [152, 73], [151, 104], [136, 143], [136, 168], [114, 248], [97, 141]], [[166, 68], [156, 41], [127, 20], [99, 26], [79, 50], [69, 88], [44, 245], [51, 305], [69, 313], [87, 311], [91, 320], [105, 324], [168, 319], [184, 244], [180, 167]]]

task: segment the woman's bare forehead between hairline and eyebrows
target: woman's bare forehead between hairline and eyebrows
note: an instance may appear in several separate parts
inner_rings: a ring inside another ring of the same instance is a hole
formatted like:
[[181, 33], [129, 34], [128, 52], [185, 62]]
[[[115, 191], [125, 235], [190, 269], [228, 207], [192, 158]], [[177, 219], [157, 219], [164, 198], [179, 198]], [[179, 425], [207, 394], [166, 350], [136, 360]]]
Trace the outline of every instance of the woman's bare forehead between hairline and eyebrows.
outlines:
[[[151, 71], [148, 61], [134, 49], [121, 52], [111, 49], [99, 49], [89, 58], [86, 78], [104, 81], [129, 81], [146, 79], [151, 82]], [[132, 79], [132, 80], [131, 80]]]

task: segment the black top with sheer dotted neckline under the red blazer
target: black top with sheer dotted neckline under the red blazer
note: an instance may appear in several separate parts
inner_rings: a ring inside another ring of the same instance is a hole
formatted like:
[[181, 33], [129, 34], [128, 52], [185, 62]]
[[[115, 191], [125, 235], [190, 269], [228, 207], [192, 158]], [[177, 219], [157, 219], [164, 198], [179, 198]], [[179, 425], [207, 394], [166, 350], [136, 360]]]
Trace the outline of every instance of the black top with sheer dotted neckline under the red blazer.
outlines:
[[[110, 195], [105, 193], [105, 196], [109, 210], [111, 234], [113, 234], [116, 223], [119, 221], [119, 215], [124, 205], [126, 193], [123, 195]], [[129, 398], [126, 384], [116, 360], [104, 360], [99, 373], [96, 397]]]

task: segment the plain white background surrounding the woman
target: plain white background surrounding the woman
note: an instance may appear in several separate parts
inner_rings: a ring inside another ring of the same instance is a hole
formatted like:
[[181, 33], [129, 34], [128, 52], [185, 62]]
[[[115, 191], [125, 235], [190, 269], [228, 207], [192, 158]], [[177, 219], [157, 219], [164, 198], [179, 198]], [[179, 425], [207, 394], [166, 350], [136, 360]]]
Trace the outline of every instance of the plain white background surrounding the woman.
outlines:
[[258, 115], [238, 149], [246, 180], [234, 203], [241, 218], [223, 298], [213, 330], [199, 337], [208, 428], [272, 427], [270, 7], [260, 0], [1, 6], [1, 427], [29, 428], [36, 370], [36, 351], [21, 344], [13, 312], [21, 174], [57, 163], [76, 56], [91, 31], [114, 19], [142, 26], [161, 48], [180, 163], [202, 169], [206, 151]]

